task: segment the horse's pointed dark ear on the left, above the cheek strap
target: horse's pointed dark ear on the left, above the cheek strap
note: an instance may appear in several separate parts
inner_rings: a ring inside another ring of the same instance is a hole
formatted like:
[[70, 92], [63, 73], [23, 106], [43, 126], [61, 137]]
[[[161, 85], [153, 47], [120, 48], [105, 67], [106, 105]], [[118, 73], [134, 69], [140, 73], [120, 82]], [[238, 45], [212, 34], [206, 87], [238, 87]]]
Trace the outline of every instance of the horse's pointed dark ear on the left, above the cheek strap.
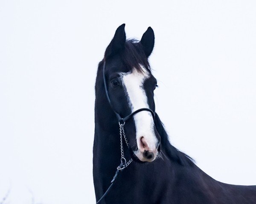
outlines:
[[116, 29], [116, 33], [106, 49], [105, 58], [111, 57], [113, 54], [122, 51], [122, 49], [125, 48], [125, 40], [125, 24], [122, 24]]

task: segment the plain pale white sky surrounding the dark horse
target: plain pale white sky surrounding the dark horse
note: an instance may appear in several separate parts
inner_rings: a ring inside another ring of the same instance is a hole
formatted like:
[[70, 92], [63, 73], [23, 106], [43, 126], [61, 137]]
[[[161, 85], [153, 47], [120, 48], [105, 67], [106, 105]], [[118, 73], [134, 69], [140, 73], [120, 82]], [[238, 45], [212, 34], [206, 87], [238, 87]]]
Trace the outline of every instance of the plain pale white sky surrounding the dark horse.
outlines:
[[[155, 32], [156, 110], [213, 178], [256, 184], [256, 1], [0, 1], [0, 201], [94, 203], [94, 83], [116, 28]], [[33, 201], [34, 199], [34, 201]]]

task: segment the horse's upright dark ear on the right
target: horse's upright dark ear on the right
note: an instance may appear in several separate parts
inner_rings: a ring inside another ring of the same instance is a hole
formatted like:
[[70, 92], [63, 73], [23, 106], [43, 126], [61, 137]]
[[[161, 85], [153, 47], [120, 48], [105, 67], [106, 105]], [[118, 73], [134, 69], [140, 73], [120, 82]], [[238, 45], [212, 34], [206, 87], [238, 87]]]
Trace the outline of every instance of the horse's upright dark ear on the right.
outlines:
[[149, 57], [154, 48], [154, 31], [151, 27], [148, 27], [148, 29], [145, 31], [140, 43], [143, 46], [146, 57]]

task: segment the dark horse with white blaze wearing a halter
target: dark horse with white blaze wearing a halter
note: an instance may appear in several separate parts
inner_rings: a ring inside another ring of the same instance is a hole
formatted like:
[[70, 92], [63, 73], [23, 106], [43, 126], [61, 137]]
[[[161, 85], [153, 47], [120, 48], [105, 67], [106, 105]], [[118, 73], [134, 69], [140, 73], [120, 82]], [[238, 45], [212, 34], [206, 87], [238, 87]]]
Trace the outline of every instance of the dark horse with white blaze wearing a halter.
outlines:
[[[93, 144], [96, 201], [108, 190], [100, 203], [256, 204], [256, 186], [216, 181], [170, 143], [155, 113], [157, 80], [148, 62], [153, 48], [151, 27], [140, 41], [127, 40], [122, 24], [99, 62]], [[112, 178], [116, 180], [109, 190]]]

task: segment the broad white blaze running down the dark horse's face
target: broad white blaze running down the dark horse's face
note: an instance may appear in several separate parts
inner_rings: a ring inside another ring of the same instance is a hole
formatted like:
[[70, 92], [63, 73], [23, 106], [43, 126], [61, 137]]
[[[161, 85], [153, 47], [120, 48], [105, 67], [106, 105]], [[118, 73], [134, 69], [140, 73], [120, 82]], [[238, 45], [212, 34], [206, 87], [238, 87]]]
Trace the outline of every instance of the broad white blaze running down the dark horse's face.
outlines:
[[[139, 72], [134, 68], [131, 72], [122, 74], [122, 81], [127, 91], [128, 101], [132, 112], [140, 108], [149, 108], [143, 84], [145, 79], [148, 79], [150, 76], [144, 67], [142, 67], [142, 69], [143, 72]], [[147, 143], [147, 149], [156, 152], [157, 138], [154, 133], [154, 120], [152, 114], [149, 111], [140, 111], [133, 117], [136, 127], [138, 149], [143, 153], [144, 148], [142, 145], [139, 145], [141, 143], [141, 138], [143, 137]]]

